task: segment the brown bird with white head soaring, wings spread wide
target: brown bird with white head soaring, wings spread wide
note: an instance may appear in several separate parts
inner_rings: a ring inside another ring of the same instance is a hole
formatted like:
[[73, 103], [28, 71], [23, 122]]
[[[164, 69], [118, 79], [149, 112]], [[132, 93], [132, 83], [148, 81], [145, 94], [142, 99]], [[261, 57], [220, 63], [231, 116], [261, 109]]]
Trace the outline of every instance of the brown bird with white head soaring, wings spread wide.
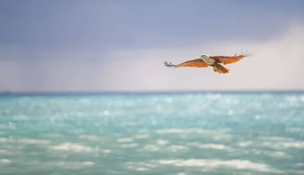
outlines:
[[[213, 71], [220, 73], [220, 74], [228, 74], [230, 72], [229, 69], [224, 67], [223, 65], [227, 64], [233, 64], [245, 57], [250, 57], [252, 54], [250, 54], [250, 51], [246, 51], [244, 54], [243, 52], [240, 55], [235, 54], [235, 56], [209, 56], [206, 54], [202, 54], [201, 58], [195, 59], [195, 60], [189, 60], [183, 63], [180, 63], [178, 65], [173, 65], [171, 62], [167, 63], [166, 61], [165, 66], [167, 67], [196, 67], [196, 68], [206, 68], [209, 66], [213, 67]], [[222, 63], [223, 65], [221, 65]]]

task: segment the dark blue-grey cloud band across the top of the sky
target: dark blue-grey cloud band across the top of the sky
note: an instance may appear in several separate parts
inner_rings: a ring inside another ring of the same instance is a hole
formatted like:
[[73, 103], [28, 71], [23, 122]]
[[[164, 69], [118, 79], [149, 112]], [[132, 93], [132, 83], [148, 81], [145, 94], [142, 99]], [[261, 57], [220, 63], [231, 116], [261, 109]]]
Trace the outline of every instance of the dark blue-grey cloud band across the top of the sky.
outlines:
[[[0, 45], [103, 50], [263, 40], [302, 18], [302, 1], [1, 1]], [[301, 21], [301, 20], [299, 20]], [[24, 58], [30, 59], [30, 58]]]

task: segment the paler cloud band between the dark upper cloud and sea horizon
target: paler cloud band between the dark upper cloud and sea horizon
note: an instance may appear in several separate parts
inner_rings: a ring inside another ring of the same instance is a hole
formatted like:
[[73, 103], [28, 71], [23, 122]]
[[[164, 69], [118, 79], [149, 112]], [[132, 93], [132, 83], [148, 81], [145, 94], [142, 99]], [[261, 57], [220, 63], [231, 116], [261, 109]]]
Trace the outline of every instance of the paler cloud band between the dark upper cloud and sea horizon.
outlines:
[[[204, 91], [299, 90], [304, 65], [301, 48], [304, 26], [292, 25], [284, 35], [267, 41], [208, 42], [174, 49], [41, 50], [32, 60], [11, 59], [3, 54], [0, 89], [20, 91]], [[0, 49], [1, 50], [1, 49]], [[230, 74], [212, 68], [166, 68], [207, 55], [234, 55], [250, 50], [254, 55], [226, 67]], [[18, 52], [19, 51], [19, 52]], [[44, 58], [44, 59], [42, 59]]]

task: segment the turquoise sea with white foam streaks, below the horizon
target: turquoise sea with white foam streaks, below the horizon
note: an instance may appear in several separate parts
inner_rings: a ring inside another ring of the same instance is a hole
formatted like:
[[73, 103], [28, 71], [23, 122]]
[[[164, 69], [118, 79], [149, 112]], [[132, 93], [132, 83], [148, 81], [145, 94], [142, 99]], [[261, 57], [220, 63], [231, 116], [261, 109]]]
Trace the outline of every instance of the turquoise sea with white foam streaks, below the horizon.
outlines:
[[1, 96], [0, 174], [304, 174], [304, 93]]

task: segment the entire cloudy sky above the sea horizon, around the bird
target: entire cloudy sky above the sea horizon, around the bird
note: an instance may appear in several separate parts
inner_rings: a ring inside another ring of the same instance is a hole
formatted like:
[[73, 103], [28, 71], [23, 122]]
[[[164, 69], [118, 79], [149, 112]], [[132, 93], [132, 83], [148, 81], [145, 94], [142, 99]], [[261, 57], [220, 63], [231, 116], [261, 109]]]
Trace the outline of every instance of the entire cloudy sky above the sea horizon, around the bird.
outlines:
[[[304, 90], [304, 1], [0, 1], [0, 91]], [[167, 68], [201, 54], [252, 57]]]

